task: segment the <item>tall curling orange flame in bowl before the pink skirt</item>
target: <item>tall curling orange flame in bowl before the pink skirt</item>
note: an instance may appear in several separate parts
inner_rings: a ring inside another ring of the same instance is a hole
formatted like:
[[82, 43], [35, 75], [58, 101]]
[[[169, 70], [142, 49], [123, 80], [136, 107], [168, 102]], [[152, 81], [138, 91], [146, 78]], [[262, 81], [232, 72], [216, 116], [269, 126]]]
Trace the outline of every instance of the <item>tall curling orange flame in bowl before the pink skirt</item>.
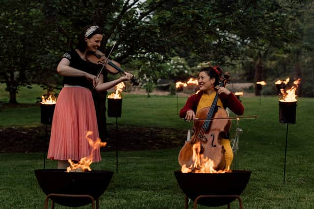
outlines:
[[86, 139], [88, 140], [89, 145], [92, 147], [92, 151], [89, 156], [84, 157], [79, 160], [78, 163], [72, 162], [71, 159], [68, 160], [70, 163], [70, 166], [67, 167], [67, 172], [69, 173], [71, 170], [75, 169], [81, 169], [83, 172], [86, 170], [91, 171], [92, 169], [90, 168], [90, 165], [93, 163], [93, 156], [94, 156], [94, 151], [96, 149], [99, 149], [99, 147], [105, 147], [107, 142], [102, 142], [101, 139], [97, 138], [96, 141], [93, 141], [93, 139], [90, 139], [88, 136], [92, 135], [93, 132], [87, 131], [86, 133]]

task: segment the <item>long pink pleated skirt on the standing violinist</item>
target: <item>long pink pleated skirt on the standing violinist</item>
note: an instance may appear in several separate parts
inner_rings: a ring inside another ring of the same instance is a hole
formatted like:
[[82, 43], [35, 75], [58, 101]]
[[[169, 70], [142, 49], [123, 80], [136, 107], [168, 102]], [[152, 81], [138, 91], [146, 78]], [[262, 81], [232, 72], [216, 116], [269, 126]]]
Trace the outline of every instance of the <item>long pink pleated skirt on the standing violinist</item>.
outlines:
[[[47, 158], [75, 160], [90, 156], [92, 147], [86, 139], [99, 138], [96, 111], [92, 93], [84, 87], [64, 87], [57, 98]], [[101, 161], [99, 147], [94, 150], [93, 162]]]

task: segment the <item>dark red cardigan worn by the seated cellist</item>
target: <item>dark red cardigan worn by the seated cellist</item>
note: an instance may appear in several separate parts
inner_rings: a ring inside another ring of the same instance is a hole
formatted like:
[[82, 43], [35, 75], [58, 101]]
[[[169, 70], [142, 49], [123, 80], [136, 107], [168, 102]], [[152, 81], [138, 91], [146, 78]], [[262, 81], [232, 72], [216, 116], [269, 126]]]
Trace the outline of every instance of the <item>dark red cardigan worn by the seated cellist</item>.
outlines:
[[[188, 97], [184, 107], [180, 110], [181, 118], [185, 117], [186, 112], [188, 110], [193, 110], [194, 113], [196, 113], [197, 105], [200, 102], [202, 95], [203, 95], [203, 92], [200, 91]], [[222, 104], [224, 105], [224, 109], [228, 107], [236, 115], [238, 116], [243, 115], [244, 107], [242, 103], [236, 98], [234, 93], [230, 93], [229, 95], [220, 94], [219, 98]]]

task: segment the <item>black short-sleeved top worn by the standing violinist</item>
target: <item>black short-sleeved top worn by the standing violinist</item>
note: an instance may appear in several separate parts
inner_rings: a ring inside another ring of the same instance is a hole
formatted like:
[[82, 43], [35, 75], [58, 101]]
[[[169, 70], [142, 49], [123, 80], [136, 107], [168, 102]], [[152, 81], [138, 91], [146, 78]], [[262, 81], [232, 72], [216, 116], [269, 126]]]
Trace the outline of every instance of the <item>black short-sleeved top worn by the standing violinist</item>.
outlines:
[[[97, 75], [97, 73], [101, 69], [98, 65], [83, 60], [78, 55], [78, 52], [76, 50], [72, 50], [63, 54], [62, 58], [66, 58], [70, 61], [70, 67], [85, 71], [92, 75]], [[77, 85], [86, 87], [88, 89], [93, 89], [93, 83], [87, 80], [87, 78], [85, 77], [63, 76], [63, 84]]]

